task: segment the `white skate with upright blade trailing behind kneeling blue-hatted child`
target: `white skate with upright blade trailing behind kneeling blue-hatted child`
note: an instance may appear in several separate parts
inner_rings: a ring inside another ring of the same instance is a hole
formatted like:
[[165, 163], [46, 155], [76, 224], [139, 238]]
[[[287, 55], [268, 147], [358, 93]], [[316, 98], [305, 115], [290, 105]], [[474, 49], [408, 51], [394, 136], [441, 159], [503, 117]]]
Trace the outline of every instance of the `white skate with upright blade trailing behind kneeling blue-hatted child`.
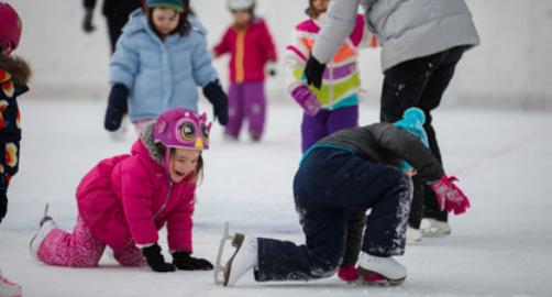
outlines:
[[[214, 284], [225, 287], [235, 285], [246, 272], [257, 264], [257, 239], [246, 237], [241, 233], [235, 233], [233, 237], [228, 232], [228, 222], [224, 226], [224, 233], [219, 245], [217, 254], [217, 263], [214, 263]], [[233, 255], [227, 262], [227, 265], [221, 264], [224, 244], [232, 240], [232, 246], [235, 248]], [[222, 277], [220, 277], [222, 274]]]

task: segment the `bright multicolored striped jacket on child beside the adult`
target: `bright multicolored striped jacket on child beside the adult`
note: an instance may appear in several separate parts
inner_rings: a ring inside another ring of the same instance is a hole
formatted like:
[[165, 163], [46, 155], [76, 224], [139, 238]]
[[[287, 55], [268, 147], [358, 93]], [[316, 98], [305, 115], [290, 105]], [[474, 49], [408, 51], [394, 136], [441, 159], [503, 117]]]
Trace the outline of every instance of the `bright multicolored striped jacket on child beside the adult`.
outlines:
[[[306, 85], [305, 65], [311, 55], [316, 38], [325, 15], [308, 20], [295, 28], [292, 44], [286, 47], [285, 65], [288, 75], [288, 90]], [[324, 109], [338, 109], [358, 105], [361, 78], [357, 69], [358, 51], [368, 46], [371, 33], [363, 15], [357, 15], [356, 24], [349, 38], [341, 45], [323, 74], [322, 88], [310, 87]]]

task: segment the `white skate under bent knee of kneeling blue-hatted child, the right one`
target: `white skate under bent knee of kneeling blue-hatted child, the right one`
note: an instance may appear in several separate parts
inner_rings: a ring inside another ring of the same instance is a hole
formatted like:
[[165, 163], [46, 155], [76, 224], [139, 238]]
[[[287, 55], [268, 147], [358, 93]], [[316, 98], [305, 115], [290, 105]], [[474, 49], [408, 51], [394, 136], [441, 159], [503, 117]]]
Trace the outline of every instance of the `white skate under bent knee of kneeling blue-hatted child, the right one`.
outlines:
[[407, 278], [407, 268], [393, 257], [373, 256], [362, 252], [358, 258], [358, 275], [364, 285], [397, 286]]

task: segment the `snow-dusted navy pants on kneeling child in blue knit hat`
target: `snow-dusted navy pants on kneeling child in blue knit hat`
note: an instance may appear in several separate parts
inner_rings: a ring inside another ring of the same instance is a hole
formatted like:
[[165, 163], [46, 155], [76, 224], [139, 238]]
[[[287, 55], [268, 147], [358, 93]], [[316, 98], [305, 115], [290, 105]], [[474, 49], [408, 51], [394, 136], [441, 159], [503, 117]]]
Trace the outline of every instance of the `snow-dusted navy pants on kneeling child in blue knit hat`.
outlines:
[[404, 254], [412, 186], [398, 168], [369, 163], [341, 148], [317, 147], [299, 167], [294, 193], [306, 244], [258, 239], [257, 282], [333, 275], [343, 256], [351, 209], [372, 209], [363, 252]]

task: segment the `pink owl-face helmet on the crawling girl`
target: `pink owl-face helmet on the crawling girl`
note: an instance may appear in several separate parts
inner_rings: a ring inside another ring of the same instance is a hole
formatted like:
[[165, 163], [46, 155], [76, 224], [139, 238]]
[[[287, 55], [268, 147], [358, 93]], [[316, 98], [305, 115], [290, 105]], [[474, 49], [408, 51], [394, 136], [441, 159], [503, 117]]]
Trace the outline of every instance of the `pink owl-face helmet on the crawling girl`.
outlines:
[[198, 116], [191, 109], [175, 108], [157, 118], [153, 140], [166, 147], [208, 150], [210, 131], [205, 112]]

